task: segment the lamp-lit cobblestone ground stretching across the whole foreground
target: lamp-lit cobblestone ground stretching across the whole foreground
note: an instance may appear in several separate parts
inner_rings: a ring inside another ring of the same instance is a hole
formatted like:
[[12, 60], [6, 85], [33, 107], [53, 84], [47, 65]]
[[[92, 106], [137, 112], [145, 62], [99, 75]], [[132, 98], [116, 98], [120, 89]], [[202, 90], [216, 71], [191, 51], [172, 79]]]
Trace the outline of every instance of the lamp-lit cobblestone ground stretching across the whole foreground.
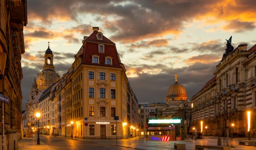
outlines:
[[[37, 138], [33, 140], [31, 138], [24, 138], [19, 141], [19, 150], [28, 149], [55, 149], [55, 150], [175, 150], [174, 142], [186, 144], [187, 150], [195, 150], [195, 145], [208, 145], [216, 146], [217, 137], [204, 137], [203, 140], [184, 140], [184, 141], [146, 141], [140, 138], [128, 138], [123, 140], [118, 140], [118, 145], [116, 145], [116, 140], [92, 140], [92, 139], [73, 139], [65, 137], [54, 137], [40, 135], [41, 145], [37, 144]], [[238, 140], [247, 140], [246, 138], [235, 138], [234, 146], [232, 150], [255, 150], [254, 146], [243, 146], [238, 145]], [[252, 138], [251, 140], [256, 140]], [[29, 147], [30, 145], [30, 147]]]

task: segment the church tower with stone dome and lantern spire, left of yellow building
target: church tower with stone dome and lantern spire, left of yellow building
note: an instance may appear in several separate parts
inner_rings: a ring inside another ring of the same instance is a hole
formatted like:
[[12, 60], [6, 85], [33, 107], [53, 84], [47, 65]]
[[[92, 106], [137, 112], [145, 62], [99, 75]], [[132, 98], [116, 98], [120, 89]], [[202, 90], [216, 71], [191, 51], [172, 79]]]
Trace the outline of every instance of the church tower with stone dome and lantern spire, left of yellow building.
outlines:
[[37, 88], [39, 92], [47, 89], [53, 83], [56, 83], [59, 79], [59, 73], [56, 73], [53, 65], [53, 51], [50, 49], [50, 44], [48, 42], [48, 48], [45, 51], [45, 65], [43, 66], [43, 71], [37, 74]]

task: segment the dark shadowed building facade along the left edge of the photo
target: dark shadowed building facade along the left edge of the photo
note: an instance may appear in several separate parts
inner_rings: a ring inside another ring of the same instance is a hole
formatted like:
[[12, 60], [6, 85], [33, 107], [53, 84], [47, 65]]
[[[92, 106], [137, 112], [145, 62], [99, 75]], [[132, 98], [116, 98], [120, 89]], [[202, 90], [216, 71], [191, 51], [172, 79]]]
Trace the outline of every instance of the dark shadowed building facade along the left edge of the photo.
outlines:
[[[21, 54], [25, 52], [23, 26], [27, 24], [26, 0], [0, 1], [0, 149], [17, 149], [22, 136]], [[3, 134], [4, 132], [4, 134]]]

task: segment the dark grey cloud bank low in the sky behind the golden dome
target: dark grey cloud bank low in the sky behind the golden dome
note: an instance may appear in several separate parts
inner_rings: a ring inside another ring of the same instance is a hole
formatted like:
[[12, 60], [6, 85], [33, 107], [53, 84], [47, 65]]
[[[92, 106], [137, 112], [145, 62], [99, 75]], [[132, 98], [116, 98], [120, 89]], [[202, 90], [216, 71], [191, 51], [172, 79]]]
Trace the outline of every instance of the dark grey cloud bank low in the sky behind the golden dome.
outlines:
[[[139, 102], [165, 102], [167, 90], [175, 83], [174, 74], [177, 73], [178, 82], [185, 87], [190, 99], [213, 77], [215, 66], [216, 63], [195, 63], [188, 67], [173, 69], [160, 65], [163, 70], [158, 74], [138, 73], [138, 77], [130, 77], [129, 81]], [[143, 66], [144, 69], [154, 67], [156, 66]]]

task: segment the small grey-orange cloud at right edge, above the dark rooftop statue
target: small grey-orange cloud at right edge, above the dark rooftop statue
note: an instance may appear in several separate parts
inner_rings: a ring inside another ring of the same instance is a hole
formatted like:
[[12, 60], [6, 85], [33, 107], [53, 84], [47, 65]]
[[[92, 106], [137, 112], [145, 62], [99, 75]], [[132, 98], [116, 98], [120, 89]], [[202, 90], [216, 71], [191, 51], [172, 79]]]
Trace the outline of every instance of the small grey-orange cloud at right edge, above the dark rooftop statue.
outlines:
[[234, 32], [245, 32], [255, 29], [255, 22], [241, 22], [239, 20], [231, 20], [223, 27], [224, 30], [233, 30]]

